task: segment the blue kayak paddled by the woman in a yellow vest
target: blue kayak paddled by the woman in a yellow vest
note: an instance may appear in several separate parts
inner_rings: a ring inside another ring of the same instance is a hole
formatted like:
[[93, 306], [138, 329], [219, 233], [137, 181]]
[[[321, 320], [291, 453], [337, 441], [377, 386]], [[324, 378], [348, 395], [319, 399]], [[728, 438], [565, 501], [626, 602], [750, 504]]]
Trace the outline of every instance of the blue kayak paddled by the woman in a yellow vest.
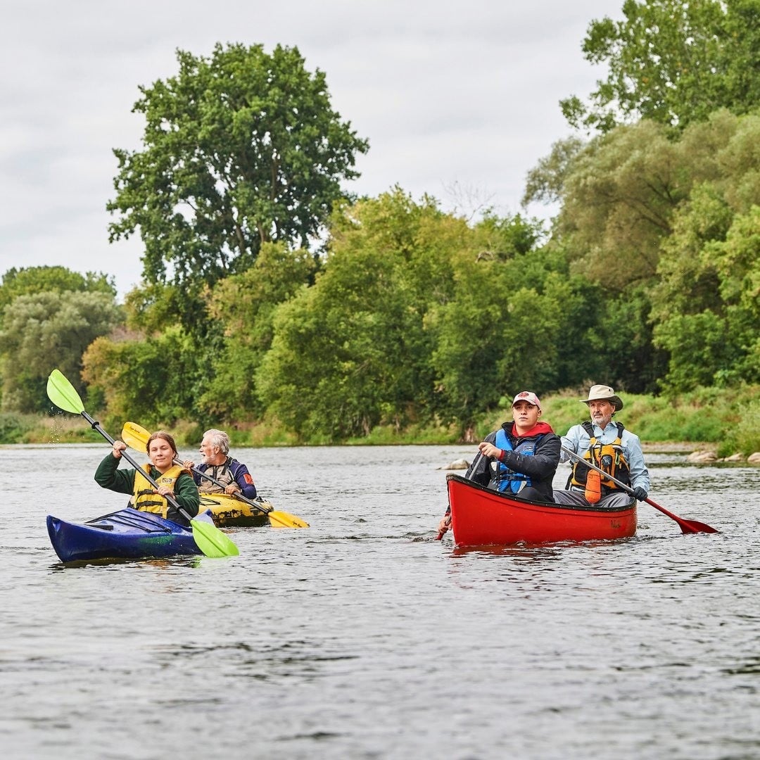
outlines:
[[48, 515], [47, 527], [52, 548], [62, 562], [201, 554], [191, 528], [131, 508], [86, 523]]

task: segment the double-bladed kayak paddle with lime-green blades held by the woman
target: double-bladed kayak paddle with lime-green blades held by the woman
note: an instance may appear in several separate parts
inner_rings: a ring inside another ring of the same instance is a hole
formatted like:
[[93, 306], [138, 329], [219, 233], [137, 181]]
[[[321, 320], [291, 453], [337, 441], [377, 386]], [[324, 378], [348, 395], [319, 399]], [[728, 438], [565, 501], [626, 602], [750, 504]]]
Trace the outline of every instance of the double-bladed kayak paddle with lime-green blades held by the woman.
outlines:
[[[90, 423], [90, 427], [93, 430], [97, 430], [100, 435], [103, 435], [103, 438], [106, 439], [109, 444], [113, 445], [115, 443], [115, 440], [103, 430], [100, 423], [93, 420], [93, 418], [87, 414], [84, 410], [84, 404], [82, 404], [81, 397], [59, 369], [54, 369], [49, 375], [47, 394], [50, 401], [52, 401], [56, 407], [59, 407], [66, 412], [71, 412], [72, 414], [81, 414], [81, 416]], [[122, 451], [122, 456], [132, 467], [135, 467], [135, 470], [141, 470], [140, 465], [131, 458], [127, 451]], [[150, 473], [146, 473], [143, 470], [143, 474], [146, 480], [154, 488], [158, 488], [158, 483], [150, 477]], [[204, 553], [204, 555], [207, 557], [230, 557], [239, 554], [237, 546], [235, 546], [230, 537], [223, 534], [216, 525], [198, 520], [197, 518], [191, 518], [187, 511], [179, 505], [179, 502], [171, 496], [166, 496], [166, 501], [168, 501], [186, 520], [189, 521], [192, 527], [192, 537], [195, 540], [195, 543], [198, 544], [198, 549], [201, 549], [201, 552]]]

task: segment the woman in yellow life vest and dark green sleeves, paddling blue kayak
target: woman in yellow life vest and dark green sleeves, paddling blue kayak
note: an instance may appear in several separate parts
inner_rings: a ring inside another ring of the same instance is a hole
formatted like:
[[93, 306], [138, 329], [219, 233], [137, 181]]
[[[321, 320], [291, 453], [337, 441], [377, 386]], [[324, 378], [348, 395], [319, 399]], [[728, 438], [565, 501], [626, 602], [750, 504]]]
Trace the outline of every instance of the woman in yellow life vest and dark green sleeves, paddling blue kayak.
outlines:
[[119, 470], [119, 460], [126, 448], [123, 441], [115, 441], [111, 453], [98, 465], [95, 482], [111, 491], [129, 493], [129, 506], [144, 512], [154, 512], [179, 524], [187, 524], [185, 518], [169, 503], [173, 498], [191, 517], [198, 515], [201, 498], [192, 475], [174, 460], [179, 457], [176, 443], [168, 432], [154, 432], [147, 441], [146, 450], [150, 464], [144, 471], [158, 483], [158, 489], [144, 477], [143, 470]]

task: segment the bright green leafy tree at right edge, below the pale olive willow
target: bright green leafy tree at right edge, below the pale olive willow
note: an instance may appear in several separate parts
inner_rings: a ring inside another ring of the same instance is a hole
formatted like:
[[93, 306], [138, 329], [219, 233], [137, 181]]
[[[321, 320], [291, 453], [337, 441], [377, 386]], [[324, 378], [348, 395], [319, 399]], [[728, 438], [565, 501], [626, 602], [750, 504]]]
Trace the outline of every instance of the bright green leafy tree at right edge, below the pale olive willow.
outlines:
[[714, 188], [700, 188], [679, 214], [660, 273], [654, 344], [669, 353], [662, 385], [760, 382], [760, 205], [732, 216]]

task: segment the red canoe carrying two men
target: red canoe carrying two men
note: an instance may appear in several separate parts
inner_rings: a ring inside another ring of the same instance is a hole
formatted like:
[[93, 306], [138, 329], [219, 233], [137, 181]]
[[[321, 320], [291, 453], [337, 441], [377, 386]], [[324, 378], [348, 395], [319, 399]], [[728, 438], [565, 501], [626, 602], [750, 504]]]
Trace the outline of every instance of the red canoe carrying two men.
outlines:
[[636, 502], [622, 508], [542, 504], [492, 491], [460, 475], [446, 476], [457, 546], [556, 543], [636, 534]]

